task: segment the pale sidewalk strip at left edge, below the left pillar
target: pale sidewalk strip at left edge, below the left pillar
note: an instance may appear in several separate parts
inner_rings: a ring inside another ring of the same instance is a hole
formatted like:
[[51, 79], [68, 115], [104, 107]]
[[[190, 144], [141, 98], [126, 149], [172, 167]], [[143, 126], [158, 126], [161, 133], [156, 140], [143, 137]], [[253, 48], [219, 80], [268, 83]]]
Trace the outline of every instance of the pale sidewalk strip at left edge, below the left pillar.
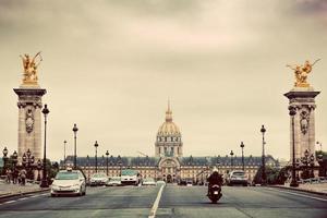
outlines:
[[9, 197], [9, 196], [16, 196], [16, 195], [24, 195], [34, 192], [41, 192], [49, 189], [41, 189], [39, 184], [32, 184], [26, 183], [26, 185], [20, 184], [8, 184], [0, 180], [0, 198]]

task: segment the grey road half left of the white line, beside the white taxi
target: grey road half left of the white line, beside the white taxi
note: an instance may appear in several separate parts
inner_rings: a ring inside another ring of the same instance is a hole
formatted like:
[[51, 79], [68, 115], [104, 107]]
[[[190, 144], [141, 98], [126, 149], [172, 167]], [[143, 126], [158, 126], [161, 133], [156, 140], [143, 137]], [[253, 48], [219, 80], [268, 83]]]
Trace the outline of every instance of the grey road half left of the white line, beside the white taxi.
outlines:
[[35, 195], [0, 205], [2, 217], [147, 217], [159, 186], [89, 187], [86, 196]]

